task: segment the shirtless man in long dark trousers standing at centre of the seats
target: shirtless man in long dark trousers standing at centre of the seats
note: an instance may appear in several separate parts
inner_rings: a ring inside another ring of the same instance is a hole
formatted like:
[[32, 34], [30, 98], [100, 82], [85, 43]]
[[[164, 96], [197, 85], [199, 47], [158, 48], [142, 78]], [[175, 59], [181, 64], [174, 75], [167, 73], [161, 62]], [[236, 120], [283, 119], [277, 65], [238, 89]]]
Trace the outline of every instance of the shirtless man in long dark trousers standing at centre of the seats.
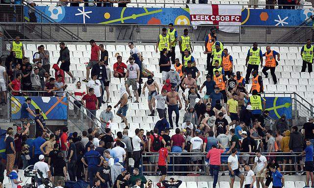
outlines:
[[[195, 81], [195, 80], [194, 80]], [[173, 129], [173, 122], [172, 122], [172, 112], [175, 111], [176, 113], [176, 126], [179, 127], [179, 110], [182, 108], [182, 102], [179, 96], [179, 93], [176, 92], [177, 87], [175, 85], [171, 86], [171, 92], [166, 94], [168, 104], [168, 117], [170, 128]], [[179, 108], [178, 108], [178, 101], [179, 101]]]

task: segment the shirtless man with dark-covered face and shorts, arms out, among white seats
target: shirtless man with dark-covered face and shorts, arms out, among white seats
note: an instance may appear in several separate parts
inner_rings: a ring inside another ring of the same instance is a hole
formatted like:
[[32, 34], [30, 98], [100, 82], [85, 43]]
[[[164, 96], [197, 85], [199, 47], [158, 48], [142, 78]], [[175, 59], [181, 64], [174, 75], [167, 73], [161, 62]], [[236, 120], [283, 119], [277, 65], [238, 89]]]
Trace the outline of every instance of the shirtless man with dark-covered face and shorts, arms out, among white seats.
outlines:
[[155, 115], [155, 99], [153, 98], [157, 94], [159, 94], [159, 87], [157, 82], [153, 79], [151, 75], [149, 75], [148, 80], [145, 82], [143, 87], [143, 94], [145, 94], [145, 88], [148, 88], [148, 108], [151, 111], [151, 114], [148, 116]]

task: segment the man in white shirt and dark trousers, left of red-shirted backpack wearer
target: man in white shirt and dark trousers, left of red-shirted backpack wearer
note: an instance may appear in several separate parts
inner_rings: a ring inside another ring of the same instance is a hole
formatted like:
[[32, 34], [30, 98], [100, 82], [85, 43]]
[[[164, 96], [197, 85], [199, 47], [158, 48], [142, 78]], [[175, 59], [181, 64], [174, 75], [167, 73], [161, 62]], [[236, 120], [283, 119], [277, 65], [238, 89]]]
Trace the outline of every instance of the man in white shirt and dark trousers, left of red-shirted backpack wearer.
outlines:
[[141, 144], [144, 145], [143, 137], [140, 135], [140, 130], [135, 129], [135, 136], [132, 138], [133, 144], [133, 156], [134, 168], [139, 168], [139, 163], [141, 161]]

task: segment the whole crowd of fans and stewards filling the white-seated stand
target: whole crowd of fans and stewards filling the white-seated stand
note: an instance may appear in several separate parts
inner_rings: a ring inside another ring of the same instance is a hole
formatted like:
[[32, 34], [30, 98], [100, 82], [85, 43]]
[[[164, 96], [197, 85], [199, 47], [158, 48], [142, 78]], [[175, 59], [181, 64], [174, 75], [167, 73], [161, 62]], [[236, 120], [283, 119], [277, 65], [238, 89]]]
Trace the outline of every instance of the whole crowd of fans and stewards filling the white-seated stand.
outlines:
[[[181, 60], [175, 58], [174, 49], [178, 38]], [[8, 83], [11, 93], [15, 96], [32, 95], [33, 93], [29, 91], [35, 93], [45, 91], [41, 94], [44, 96], [63, 96], [67, 89], [64, 74], [67, 73], [77, 86], [70, 91], [75, 97], [75, 111], [83, 105], [88, 110], [88, 116], [95, 118], [96, 111], [101, 105], [108, 103], [111, 71], [108, 67], [108, 52], [104, 45], [98, 46], [94, 40], [90, 41], [90, 45], [91, 58], [86, 67], [87, 76], [82, 80], [87, 83], [85, 90], [70, 71], [69, 49], [65, 43], [59, 44], [60, 57], [52, 65], [52, 69], [55, 70], [55, 81], [49, 73], [49, 51], [45, 50], [44, 46], [39, 46], [38, 52], [33, 56], [32, 66], [28, 58], [24, 57], [22, 42], [16, 37], [12, 43], [10, 56], [5, 61], [5, 67], [0, 71], [2, 94], [6, 94]], [[191, 55], [193, 47], [188, 30], [184, 29], [184, 34], [179, 37], [173, 24], [169, 24], [168, 29], [162, 29], [156, 44], [156, 52], [160, 52], [159, 70], [163, 84], [162, 88], [159, 88], [159, 83], [154, 80], [154, 72], [147, 70], [142, 63], [141, 52], [132, 42], [129, 43], [129, 47], [130, 57], [126, 62], [129, 63], [124, 64], [122, 57], [117, 54], [112, 75], [125, 80], [125, 85], [120, 89], [119, 101], [113, 107], [119, 106], [116, 115], [122, 119], [126, 128], [116, 135], [112, 134], [110, 124], [114, 121], [114, 115], [111, 112], [112, 106], [107, 105], [100, 114], [105, 133], [93, 128], [90, 122], [89, 129], [83, 131], [81, 135], [77, 132], [69, 133], [67, 127], [57, 128], [54, 133], [48, 134], [41, 112], [39, 109], [32, 111], [29, 105], [31, 98], [27, 97], [21, 107], [22, 126], [17, 128], [15, 135], [12, 128], [7, 130], [5, 139], [7, 175], [10, 176], [17, 168], [26, 168], [27, 165], [34, 164], [34, 168], [43, 172], [44, 178], [49, 178], [62, 187], [68, 175], [71, 181], [80, 179], [89, 181], [91, 187], [99, 187], [99, 184], [101, 187], [107, 187], [109, 183], [109, 187], [120, 188], [144, 184], [146, 179], [143, 178], [143, 171], [149, 175], [156, 175], [160, 171], [161, 177], [157, 187], [162, 188], [167, 187], [164, 181], [167, 171], [172, 168], [167, 165], [171, 163], [192, 164], [175, 165], [173, 170], [178, 174], [209, 172], [214, 176], [213, 188], [216, 186], [219, 172], [223, 175], [229, 172], [231, 188], [235, 176], [241, 179], [242, 185], [244, 176], [239, 170], [242, 168], [239, 164], [245, 164], [245, 170], [251, 174], [246, 177], [247, 183], [255, 181], [254, 172], [250, 170], [252, 165], [253, 170], [257, 167], [256, 181], [261, 182], [263, 188], [267, 186], [263, 185], [263, 178], [271, 181], [271, 176], [274, 186], [274, 181], [277, 181], [278, 186], [275, 187], [281, 187], [279, 181], [283, 186], [284, 178], [280, 171], [298, 174], [306, 171], [307, 176], [313, 178], [313, 172], [310, 170], [312, 169], [310, 166], [313, 166], [313, 157], [311, 160], [307, 156], [313, 156], [314, 118], [309, 118], [309, 122], [304, 124], [303, 131], [296, 126], [291, 127], [285, 114], [276, 120], [272, 130], [266, 127], [265, 119], [269, 112], [265, 110], [265, 99], [261, 97], [264, 87], [258, 69], [259, 66], [263, 67], [262, 72], [266, 77], [268, 76], [266, 71], [270, 69], [276, 84], [277, 78], [273, 72], [280, 61], [278, 52], [266, 47], [266, 52], [262, 54], [258, 44], [254, 43], [247, 53], [247, 71], [244, 78], [240, 71], [233, 70], [232, 56], [217, 40], [215, 29], [211, 29], [205, 40], [204, 51], [207, 54], [208, 73], [206, 81], [198, 83], [200, 71], [195, 67], [196, 62]], [[308, 40], [307, 45], [301, 50], [303, 71], [307, 66], [309, 71], [312, 71], [310, 68], [314, 57], [313, 49], [311, 41]], [[253, 77], [250, 80], [251, 74]], [[143, 77], [147, 77], [147, 81], [143, 82]], [[252, 84], [250, 90], [252, 94], [246, 90], [245, 84], [248, 83]], [[133, 98], [130, 86], [134, 92], [134, 103], [139, 103], [139, 96], [145, 94], [146, 88], [148, 89], [147, 102], [151, 113], [149, 116], [158, 114], [160, 118], [153, 130], [135, 129], [135, 136], [132, 138], [128, 136], [129, 123], [126, 118], [128, 103]], [[200, 93], [203, 92], [203, 88], [206, 90], [202, 98]], [[180, 90], [183, 91], [182, 95], [178, 93]], [[185, 113], [180, 114], [183, 108]], [[175, 122], [172, 119], [173, 112], [176, 115]], [[36, 124], [34, 140], [29, 136], [31, 116], [35, 118]], [[231, 121], [227, 120], [227, 116]], [[179, 117], [183, 117], [183, 122], [179, 123]], [[175, 129], [175, 134], [170, 137], [172, 129]], [[174, 153], [172, 156], [176, 156], [177, 153], [181, 157], [170, 158], [169, 152]], [[184, 152], [192, 153], [184, 156]], [[277, 156], [279, 152], [287, 155]], [[266, 157], [262, 153], [267, 153]], [[306, 155], [305, 166], [302, 163], [303, 154]], [[134, 161], [133, 175], [130, 174], [131, 160]], [[207, 162], [204, 163], [205, 161]], [[292, 165], [296, 161], [298, 165]], [[41, 179], [40, 176], [38, 178]], [[16, 182], [18, 181], [13, 179], [13, 183]], [[174, 182], [177, 181], [170, 180], [169, 183]], [[180, 184], [180, 181], [177, 184]]]

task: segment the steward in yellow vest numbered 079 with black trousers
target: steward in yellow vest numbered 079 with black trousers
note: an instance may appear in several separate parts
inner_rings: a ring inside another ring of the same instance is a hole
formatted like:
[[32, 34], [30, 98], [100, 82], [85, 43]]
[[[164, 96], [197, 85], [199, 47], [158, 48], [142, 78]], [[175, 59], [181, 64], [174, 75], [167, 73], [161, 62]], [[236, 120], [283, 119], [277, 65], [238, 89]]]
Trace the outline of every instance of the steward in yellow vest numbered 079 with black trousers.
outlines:
[[246, 84], [249, 83], [249, 78], [252, 70], [255, 70], [257, 73], [259, 73], [259, 65], [261, 64], [262, 67], [262, 63], [262, 50], [257, 47], [257, 43], [253, 43], [253, 47], [247, 52], [245, 60], [245, 66], [247, 67], [245, 75]]

